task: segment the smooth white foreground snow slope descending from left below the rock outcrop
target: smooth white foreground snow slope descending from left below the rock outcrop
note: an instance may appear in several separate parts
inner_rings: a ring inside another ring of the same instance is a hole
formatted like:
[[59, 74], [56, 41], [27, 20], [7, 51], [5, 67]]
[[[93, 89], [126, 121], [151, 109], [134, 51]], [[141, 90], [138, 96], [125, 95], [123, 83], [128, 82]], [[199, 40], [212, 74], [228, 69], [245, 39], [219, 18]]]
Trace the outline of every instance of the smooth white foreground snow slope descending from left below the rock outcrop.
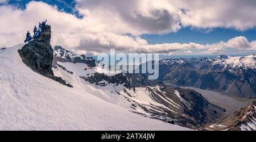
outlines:
[[0, 51], [0, 130], [189, 130], [106, 102], [96, 96], [111, 95], [92, 85], [72, 88], [33, 72], [17, 52], [23, 45]]

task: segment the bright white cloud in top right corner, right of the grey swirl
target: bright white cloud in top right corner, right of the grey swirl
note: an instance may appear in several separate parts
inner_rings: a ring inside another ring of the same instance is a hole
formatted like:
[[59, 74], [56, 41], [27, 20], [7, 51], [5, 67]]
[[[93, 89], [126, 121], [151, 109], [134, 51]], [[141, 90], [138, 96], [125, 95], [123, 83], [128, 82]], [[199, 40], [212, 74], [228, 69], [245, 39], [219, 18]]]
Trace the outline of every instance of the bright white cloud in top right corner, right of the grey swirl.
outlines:
[[216, 0], [188, 1], [184, 0], [179, 6], [185, 9], [181, 16], [183, 26], [198, 28], [235, 28], [247, 30], [256, 26], [256, 1], [251, 0]]

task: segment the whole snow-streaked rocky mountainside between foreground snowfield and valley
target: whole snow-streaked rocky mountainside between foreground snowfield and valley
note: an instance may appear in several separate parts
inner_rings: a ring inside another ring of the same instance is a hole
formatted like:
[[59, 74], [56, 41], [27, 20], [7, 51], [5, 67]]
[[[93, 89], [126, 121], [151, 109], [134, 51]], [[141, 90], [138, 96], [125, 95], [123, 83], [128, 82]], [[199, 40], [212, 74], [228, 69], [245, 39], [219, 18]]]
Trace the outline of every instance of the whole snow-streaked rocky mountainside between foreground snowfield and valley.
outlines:
[[120, 69], [102, 68], [104, 65], [89, 57], [59, 46], [53, 52], [55, 76], [76, 89], [90, 89], [97, 97], [147, 118], [197, 128], [213, 122], [224, 112], [195, 91], [150, 82], [143, 74], [123, 74]]

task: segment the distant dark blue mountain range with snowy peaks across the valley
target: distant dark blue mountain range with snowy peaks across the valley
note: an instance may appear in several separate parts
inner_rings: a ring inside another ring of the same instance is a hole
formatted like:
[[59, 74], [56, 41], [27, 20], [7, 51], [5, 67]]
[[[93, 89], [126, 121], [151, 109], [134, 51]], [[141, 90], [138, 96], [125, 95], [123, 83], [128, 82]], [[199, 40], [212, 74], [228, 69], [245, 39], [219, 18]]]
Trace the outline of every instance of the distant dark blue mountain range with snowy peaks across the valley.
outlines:
[[160, 60], [158, 81], [256, 98], [256, 55]]

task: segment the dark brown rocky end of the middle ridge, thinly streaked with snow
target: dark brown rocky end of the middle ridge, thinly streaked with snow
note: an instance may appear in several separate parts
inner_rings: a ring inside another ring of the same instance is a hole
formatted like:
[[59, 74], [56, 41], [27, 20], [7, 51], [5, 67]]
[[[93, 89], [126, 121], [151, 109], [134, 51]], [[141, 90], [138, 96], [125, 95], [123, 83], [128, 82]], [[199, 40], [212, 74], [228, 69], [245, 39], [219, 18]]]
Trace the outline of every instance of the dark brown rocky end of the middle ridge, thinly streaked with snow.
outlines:
[[[179, 124], [179, 126], [197, 129], [204, 126], [204, 124], [211, 123], [217, 118], [220, 118], [225, 112], [223, 108], [209, 103], [201, 94], [194, 90], [163, 85], [162, 91], [166, 92], [166, 94], [162, 94], [159, 91], [152, 90], [149, 86], [146, 88], [151, 92], [152, 98], [175, 111], [172, 112], [165, 107], [155, 106], [159, 110], [163, 110], [163, 112], [159, 112], [141, 106], [144, 111], [155, 116], [155, 119], [169, 122], [171, 118], [174, 120], [175, 124]], [[179, 95], [186, 101], [187, 105], [177, 97], [175, 90], [179, 91]], [[170, 103], [167, 103], [166, 100], [169, 99], [179, 105], [179, 108], [173, 107]], [[136, 105], [140, 106], [138, 103]]]

